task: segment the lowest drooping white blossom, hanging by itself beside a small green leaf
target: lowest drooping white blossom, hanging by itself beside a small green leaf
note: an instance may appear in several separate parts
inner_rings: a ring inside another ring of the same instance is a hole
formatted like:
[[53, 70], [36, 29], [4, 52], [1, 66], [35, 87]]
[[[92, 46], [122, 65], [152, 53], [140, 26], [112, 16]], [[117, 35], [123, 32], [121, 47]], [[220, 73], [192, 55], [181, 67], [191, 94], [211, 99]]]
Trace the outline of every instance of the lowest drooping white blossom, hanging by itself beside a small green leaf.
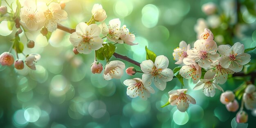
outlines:
[[186, 94], [188, 89], [171, 90], [168, 92], [170, 98], [169, 103], [172, 106], [177, 106], [181, 112], [185, 112], [189, 108], [189, 103], [195, 104], [195, 99], [189, 94]]

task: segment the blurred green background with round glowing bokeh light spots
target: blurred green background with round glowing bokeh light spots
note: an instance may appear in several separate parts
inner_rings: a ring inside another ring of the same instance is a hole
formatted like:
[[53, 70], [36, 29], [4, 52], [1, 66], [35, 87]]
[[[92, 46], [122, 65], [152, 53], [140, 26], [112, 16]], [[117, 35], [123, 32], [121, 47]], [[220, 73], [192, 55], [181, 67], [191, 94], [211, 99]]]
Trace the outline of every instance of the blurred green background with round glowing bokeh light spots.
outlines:
[[[7, 1], [11, 3], [13, 0]], [[201, 10], [202, 5], [209, 1], [217, 4], [218, 15], [215, 17], [207, 16]], [[255, 6], [255, 0], [251, 1]], [[65, 7], [68, 19], [61, 24], [75, 28], [77, 23], [90, 20], [95, 3], [102, 4], [106, 10], [106, 23], [120, 18], [121, 25], [127, 25], [135, 33], [135, 43], [139, 45], [117, 44], [116, 52], [138, 62], [146, 59], [144, 47], [148, 46], [157, 55], [168, 57], [169, 68], [176, 67], [173, 49], [182, 40], [193, 44], [197, 39], [194, 26], [198, 18], [207, 21], [218, 45], [241, 42], [245, 48], [256, 46], [256, 16], [248, 13], [245, 6], [241, 6], [235, 23], [216, 21], [230, 10], [234, 12], [229, 13], [230, 17], [236, 15], [235, 0], [72, 0]], [[5, 4], [3, 0], [2, 4]], [[214, 26], [209, 22], [219, 24]], [[3, 27], [4, 22], [1, 24], [0, 32], [11, 34], [0, 36], [0, 53], [8, 51], [9, 40], [16, 32], [15, 28], [9, 31]], [[168, 91], [180, 89], [177, 79], [168, 82], [164, 91], [153, 86], [156, 92], [147, 101], [138, 97], [132, 99], [126, 95], [123, 81], [141, 78], [142, 74], [124, 74], [121, 79], [105, 81], [102, 74], [90, 71], [93, 53], [73, 54], [70, 34], [56, 30], [47, 42], [40, 30], [26, 33], [35, 41], [35, 47], [25, 47], [24, 53], [38, 53], [42, 58], [36, 64], [36, 71], [26, 66], [24, 70], [16, 70], [13, 66], [0, 65], [0, 128], [231, 128], [236, 112], [228, 112], [220, 103], [219, 90], [215, 97], [205, 97], [201, 90], [191, 90], [194, 84], [185, 79], [185, 88], [197, 103], [191, 104], [183, 113], [177, 111], [176, 106], [161, 108], [168, 101]], [[218, 39], [216, 35], [219, 35]], [[27, 42], [24, 33], [21, 41], [24, 45]], [[252, 58], [255, 58], [255, 53], [255, 50], [250, 53]], [[25, 59], [22, 54], [19, 56]], [[124, 63], [126, 67], [139, 69], [136, 65]], [[233, 90], [242, 82], [230, 78], [221, 86], [224, 90]], [[247, 113], [248, 128], [254, 128], [256, 111]]]

